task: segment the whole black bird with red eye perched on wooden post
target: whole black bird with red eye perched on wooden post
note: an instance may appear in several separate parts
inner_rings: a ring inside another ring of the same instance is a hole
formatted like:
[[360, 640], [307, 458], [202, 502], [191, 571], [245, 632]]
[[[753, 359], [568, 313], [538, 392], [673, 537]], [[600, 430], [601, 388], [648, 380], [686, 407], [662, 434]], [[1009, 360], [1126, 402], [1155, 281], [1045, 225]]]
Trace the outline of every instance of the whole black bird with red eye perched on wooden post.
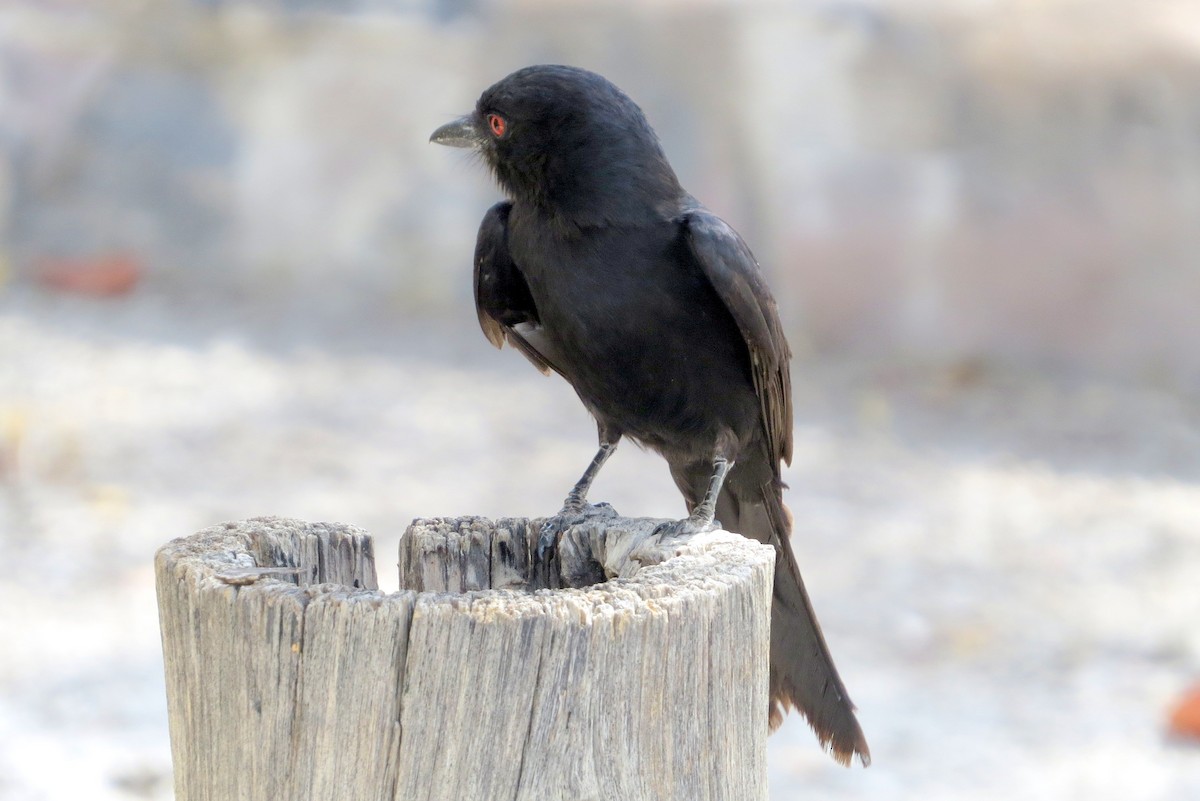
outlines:
[[715, 516], [775, 547], [772, 730], [794, 706], [834, 759], [870, 764], [788, 541], [791, 351], [750, 248], [679, 186], [642, 110], [593, 72], [520, 70], [430, 140], [478, 150], [509, 198], [475, 245], [484, 333], [570, 381], [599, 427], [542, 546], [587, 512], [622, 436], [658, 451], [690, 512], [680, 532]]

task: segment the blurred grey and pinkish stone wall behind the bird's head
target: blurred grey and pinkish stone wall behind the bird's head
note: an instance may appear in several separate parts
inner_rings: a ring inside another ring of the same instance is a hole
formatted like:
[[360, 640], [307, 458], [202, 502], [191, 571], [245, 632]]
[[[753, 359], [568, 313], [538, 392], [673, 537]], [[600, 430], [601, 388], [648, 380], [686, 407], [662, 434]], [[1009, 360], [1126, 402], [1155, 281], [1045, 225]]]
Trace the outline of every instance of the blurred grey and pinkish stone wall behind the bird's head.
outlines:
[[1200, 380], [1194, 1], [98, 5], [0, 7], [10, 288], [124, 254], [136, 291], [457, 308], [496, 191], [428, 133], [562, 61], [642, 104], [797, 350]]

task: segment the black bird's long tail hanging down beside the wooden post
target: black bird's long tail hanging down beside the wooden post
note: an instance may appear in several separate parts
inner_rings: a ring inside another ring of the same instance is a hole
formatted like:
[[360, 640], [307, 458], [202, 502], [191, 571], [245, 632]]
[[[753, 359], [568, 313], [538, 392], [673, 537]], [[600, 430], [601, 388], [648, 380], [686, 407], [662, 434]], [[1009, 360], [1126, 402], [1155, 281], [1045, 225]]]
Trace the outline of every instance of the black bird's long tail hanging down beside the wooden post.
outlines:
[[870, 765], [871, 752], [854, 717], [854, 704], [833, 664], [792, 554], [792, 514], [784, 505], [782, 487], [776, 481], [746, 490], [732, 483], [726, 483], [718, 500], [716, 518], [722, 528], [775, 547], [770, 729], [782, 723], [788, 709], [798, 709], [834, 759], [850, 765], [857, 755], [864, 766]]

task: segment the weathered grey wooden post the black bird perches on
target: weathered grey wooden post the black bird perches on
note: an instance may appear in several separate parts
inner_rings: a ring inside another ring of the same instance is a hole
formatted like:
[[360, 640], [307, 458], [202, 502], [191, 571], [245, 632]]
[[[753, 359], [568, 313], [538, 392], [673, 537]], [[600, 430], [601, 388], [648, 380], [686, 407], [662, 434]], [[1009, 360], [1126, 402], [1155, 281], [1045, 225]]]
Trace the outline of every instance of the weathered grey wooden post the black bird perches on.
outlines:
[[764, 800], [774, 553], [654, 523], [580, 524], [551, 574], [539, 520], [416, 520], [390, 595], [347, 525], [163, 546], [175, 797]]

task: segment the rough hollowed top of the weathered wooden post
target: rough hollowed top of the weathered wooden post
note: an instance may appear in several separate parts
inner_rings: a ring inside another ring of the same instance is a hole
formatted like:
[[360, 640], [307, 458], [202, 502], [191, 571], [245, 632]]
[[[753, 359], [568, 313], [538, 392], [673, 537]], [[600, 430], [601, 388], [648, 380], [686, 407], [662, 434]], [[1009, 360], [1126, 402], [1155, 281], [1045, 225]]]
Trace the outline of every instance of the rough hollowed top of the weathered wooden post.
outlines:
[[[556, 558], [539, 565], [541, 518], [418, 518], [401, 540], [400, 592], [570, 588], [604, 594], [653, 586], [652, 595], [664, 597], [701, 578], [744, 580], [748, 571], [774, 564], [773, 548], [728, 531], [660, 541], [654, 528], [661, 522], [614, 513], [593, 518], [568, 529]], [[156, 561], [181, 579], [211, 586], [378, 592], [371, 535], [342, 523], [280, 517], [223, 523], [168, 542]], [[611, 586], [596, 588], [605, 583]]]

